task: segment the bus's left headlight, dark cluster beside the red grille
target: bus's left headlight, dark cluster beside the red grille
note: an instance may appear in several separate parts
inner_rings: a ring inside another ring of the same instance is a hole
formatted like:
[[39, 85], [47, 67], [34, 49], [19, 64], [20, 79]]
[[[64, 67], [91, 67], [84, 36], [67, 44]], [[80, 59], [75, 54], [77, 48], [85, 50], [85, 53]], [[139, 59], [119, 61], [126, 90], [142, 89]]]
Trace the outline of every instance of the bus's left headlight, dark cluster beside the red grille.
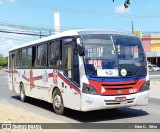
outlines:
[[93, 86], [86, 83], [83, 83], [82, 92], [86, 94], [98, 95], [98, 92], [96, 91], [96, 89]]

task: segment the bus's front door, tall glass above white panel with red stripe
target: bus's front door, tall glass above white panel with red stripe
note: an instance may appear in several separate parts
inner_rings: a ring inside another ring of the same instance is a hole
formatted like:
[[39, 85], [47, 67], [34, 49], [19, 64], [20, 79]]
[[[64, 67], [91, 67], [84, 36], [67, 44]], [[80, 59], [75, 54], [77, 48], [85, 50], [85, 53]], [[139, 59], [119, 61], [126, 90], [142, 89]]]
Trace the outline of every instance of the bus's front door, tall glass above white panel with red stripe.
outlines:
[[[75, 50], [74, 46], [65, 45], [64, 47], [64, 75], [67, 77], [68, 84], [65, 83], [65, 103], [68, 107], [72, 109], [80, 109], [80, 90], [78, 88], [75, 80], [79, 82], [79, 65], [75, 66], [75, 63], [78, 64], [78, 60], [75, 60]], [[78, 53], [78, 52], [77, 52]], [[78, 67], [78, 69], [77, 69]], [[77, 71], [78, 70], [78, 71]], [[76, 73], [76, 74], [75, 74]]]

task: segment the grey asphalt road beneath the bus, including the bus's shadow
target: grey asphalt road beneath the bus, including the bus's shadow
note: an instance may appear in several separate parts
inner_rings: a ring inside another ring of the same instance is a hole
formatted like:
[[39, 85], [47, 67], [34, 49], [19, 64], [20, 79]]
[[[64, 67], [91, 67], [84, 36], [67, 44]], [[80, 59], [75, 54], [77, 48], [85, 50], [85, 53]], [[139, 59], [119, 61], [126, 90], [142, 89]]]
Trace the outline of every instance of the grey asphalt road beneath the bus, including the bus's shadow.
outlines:
[[[0, 72], [0, 101], [10, 106], [16, 106], [24, 111], [33, 112], [50, 119], [65, 121], [68, 123], [160, 123], [160, 99], [155, 98], [150, 98], [149, 105], [142, 107], [91, 112], [78, 112], [71, 110], [70, 114], [59, 116], [53, 113], [52, 105], [44, 101], [32, 99], [27, 103], [21, 102], [19, 95], [9, 91], [7, 73], [4, 72]], [[87, 131], [93, 132], [96, 130]]]

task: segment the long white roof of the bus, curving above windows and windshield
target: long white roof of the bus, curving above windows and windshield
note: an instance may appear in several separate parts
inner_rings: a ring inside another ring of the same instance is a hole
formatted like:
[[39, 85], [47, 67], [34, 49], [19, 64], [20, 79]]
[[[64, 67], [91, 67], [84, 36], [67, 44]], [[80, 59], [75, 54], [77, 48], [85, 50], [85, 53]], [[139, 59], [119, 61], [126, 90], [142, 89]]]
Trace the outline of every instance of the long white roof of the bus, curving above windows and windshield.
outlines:
[[50, 41], [50, 40], [57, 39], [57, 38], [76, 36], [76, 35], [82, 35], [82, 34], [117, 34], [117, 35], [135, 36], [132, 33], [118, 32], [118, 31], [107, 31], [107, 30], [102, 30], [102, 29], [69, 30], [69, 31], [64, 31], [64, 32], [61, 32], [58, 34], [54, 34], [54, 35], [45, 37], [45, 38], [34, 40], [34, 41], [31, 41], [31, 42], [28, 42], [28, 43], [25, 43], [22, 45], [15, 46], [15, 47], [9, 49], [9, 51], [23, 48], [23, 47], [30, 46], [30, 45], [34, 45], [34, 44], [38, 44], [38, 43], [42, 43], [42, 42], [46, 42], [46, 41]]

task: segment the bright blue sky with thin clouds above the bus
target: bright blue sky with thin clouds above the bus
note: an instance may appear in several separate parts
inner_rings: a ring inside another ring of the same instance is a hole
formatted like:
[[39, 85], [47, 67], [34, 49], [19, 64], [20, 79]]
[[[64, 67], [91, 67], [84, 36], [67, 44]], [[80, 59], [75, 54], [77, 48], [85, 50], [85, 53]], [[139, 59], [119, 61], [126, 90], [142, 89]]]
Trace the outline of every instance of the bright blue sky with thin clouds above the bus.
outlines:
[[[160, 0], [0, 0], [0, 31], [49, 35], [54, 32], [55, 11], [60, 12], [61, 31], [70, 29], [141, 30], [160, 34]], [[0, 54], [39, 36], [0, 32]]]

